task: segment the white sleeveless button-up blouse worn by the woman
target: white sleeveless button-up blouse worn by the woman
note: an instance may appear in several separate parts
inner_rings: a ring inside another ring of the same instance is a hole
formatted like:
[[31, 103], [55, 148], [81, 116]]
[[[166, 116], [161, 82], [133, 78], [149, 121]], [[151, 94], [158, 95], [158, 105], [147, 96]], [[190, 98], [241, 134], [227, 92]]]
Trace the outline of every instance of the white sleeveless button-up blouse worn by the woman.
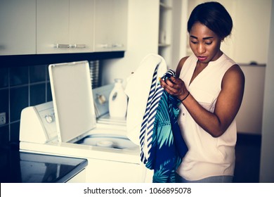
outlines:
[[[196, 101], [213, 113], [216, 99], [221, 91], [223, 75], [236, 63], [223, 53], [218, 60], [209, 62], [190, 84], [196, 63], [196, 56], [188, 57], [181, 70], [180, 78]], [[235, 120], [226, 132], [214, 138], [197, 125], [183, 104], [179, 108], [181, 112], [178, 124], [189, 150], [178, 167], [177, 173], [190, 181], [212, 176], [233, 175], [237, 139]]]

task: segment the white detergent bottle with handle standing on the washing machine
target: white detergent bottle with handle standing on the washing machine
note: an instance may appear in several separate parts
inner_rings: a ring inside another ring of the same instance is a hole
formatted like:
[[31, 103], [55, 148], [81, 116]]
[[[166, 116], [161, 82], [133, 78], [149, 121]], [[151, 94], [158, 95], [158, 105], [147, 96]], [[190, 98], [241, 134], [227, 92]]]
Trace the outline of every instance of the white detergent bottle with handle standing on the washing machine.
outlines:
[[115, 79], [115, 87], [110, 92], [110, 117], [126, 117], [127, 96], [122, 86], [122, 79]]

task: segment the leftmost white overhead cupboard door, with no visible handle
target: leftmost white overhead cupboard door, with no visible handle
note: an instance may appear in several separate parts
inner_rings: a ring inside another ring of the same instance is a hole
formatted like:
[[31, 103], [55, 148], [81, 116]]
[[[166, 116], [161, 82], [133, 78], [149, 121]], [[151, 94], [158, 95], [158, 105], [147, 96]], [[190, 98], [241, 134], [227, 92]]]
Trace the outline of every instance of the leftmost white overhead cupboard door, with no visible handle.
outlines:
[[0, 1], [0, 56], [35, 53], [35, 2]]

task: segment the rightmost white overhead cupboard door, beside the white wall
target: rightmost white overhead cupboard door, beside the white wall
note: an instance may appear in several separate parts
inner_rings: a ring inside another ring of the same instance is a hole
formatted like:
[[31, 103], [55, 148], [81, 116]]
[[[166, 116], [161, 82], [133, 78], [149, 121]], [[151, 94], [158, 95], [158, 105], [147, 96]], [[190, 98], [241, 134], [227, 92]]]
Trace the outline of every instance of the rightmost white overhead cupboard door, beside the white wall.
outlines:
[[124, 51], [127, 44], [127, 0], [95, 0], [94, 51]]

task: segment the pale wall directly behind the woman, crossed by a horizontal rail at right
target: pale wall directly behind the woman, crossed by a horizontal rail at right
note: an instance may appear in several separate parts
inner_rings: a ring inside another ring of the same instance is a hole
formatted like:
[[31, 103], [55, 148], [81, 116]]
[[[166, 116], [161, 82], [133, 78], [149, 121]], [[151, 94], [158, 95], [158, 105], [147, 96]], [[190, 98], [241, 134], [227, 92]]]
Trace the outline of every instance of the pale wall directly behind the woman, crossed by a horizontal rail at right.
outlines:
[[[189, 0], [190, 12], [207, 0]], [[233, 18], [233, 31], [221, 44], [221, 50], [240, 65], [256, 61], [266, 64], [270, 28], [271, 0], [216, 0]], [[188, 48], [188, 54], [192, 53]], [[261, 134], [265, 67], [241, 66], [245, 75], [242, 106], [237, 113], [237, 130], [244, 134]], [[254, 94], [256, 89], [256, 94]]]

